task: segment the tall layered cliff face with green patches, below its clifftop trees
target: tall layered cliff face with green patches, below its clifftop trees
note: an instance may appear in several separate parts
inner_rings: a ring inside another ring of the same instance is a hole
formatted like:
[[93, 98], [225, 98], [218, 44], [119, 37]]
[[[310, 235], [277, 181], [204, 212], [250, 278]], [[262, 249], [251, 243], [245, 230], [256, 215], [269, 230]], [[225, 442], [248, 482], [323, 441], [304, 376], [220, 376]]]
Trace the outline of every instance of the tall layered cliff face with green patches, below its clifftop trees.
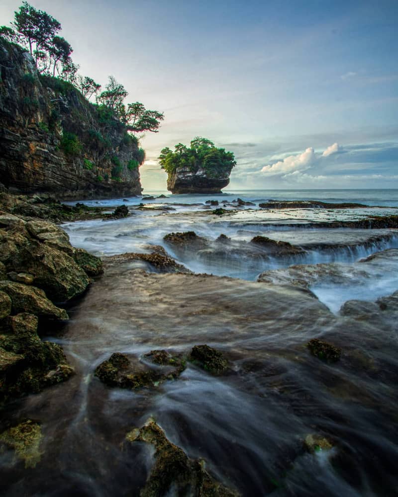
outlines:
[[141, 193], [142, 156], [122, 123], [2, 38], [0, 71], [2, 185], [59, 199]]

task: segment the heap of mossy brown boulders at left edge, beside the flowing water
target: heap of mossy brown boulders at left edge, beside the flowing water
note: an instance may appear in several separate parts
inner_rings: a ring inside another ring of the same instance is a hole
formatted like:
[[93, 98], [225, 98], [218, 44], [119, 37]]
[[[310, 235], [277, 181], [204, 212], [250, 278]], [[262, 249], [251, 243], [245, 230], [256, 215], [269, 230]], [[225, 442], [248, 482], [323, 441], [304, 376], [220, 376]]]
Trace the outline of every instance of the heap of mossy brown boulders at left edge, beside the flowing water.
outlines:
[[55, 224], [0, 215], [0, 402], [73, 374], [60, 345], [41, 341], [39, 325], [67, 320], [54, 302], [81, 295], [101, 272], [101, 260], [73, 248]]

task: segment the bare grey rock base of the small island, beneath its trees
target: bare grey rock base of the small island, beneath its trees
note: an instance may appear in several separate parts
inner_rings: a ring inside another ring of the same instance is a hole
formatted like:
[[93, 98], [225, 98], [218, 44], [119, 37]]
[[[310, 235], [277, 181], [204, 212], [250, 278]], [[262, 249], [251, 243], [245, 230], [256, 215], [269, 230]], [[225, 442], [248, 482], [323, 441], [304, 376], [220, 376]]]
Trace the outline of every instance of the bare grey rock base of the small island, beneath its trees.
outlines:
[[197, 171], [192, 171], [189, 167], [178, 167], [169, 174], [167, 189], [173, 193], [221, 193], [221, 188], [229, 183], [230, 172], [210, 175], [201, 167]]

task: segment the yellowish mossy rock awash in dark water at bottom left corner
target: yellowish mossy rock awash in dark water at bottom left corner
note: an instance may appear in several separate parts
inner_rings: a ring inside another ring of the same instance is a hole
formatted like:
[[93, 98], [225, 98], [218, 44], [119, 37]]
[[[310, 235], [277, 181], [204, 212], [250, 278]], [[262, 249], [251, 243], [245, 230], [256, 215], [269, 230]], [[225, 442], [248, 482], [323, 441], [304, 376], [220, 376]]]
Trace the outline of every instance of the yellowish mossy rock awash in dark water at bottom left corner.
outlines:
[[0, 433], [0, 443], [14, 451], [15, 457], [25, 463], [25, 468], [34, 468], [41, 459], [40, 442], [43, 438], [41, 425], [27, 419]]

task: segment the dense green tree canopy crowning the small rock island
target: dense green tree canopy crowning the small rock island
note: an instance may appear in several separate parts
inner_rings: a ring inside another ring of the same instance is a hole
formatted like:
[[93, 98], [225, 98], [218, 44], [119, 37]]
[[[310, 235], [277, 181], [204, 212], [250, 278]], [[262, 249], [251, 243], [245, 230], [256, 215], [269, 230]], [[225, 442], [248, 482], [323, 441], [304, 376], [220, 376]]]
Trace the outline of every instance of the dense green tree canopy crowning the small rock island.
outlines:
[[206, 138], [194, 138], [190, 148], [179, 143], [174, 149], [173, 152], [166, 147], [159, 156], [162, 169], [169, 174], [178, 167], [186, 167], [193, 172], [197, 172], [199, 167], [202, 167], [209, 178], [216, 178], [229, 174], [236, 165], [232, 152], [217, 149], [213, 142]]

